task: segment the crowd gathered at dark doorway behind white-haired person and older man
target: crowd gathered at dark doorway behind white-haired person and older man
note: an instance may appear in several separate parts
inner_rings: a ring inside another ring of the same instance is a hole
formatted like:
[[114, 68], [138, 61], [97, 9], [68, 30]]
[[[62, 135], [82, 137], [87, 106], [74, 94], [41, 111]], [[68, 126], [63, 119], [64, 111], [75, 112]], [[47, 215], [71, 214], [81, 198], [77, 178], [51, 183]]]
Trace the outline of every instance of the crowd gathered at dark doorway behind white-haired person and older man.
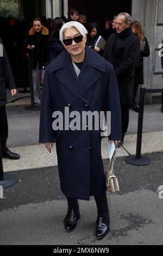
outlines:
[[[59, 40], [59, 31], [64, 23], [69, 21], [77, 21], [85, 26], [88, 31], [86, 45], [101, 56], [104, 54], [104, 49], [95, 47], [99, 35], [101, 35], [105, 41], [108, 41], [110, 35], [117, 33], [116, 16], [114, 16], [113, 20], [105, 18], [105, 24], [99, 25], [93, 19], [87, 19], [86, 14], [80, 14], [79, 11], [74, 8], [68, 11], [68, 19], [62, 16], [52, 20], [49, 18], [46, 19], [46, 17], [43, 16], [42, 19], [22, 19], [20, 22], [12, 18], [8, 21], [1, 18], [0, 35], [5, 50], [7, 51], [14, 77], [19, 77], [20, 74], [23, 74], [23, 72], [20, 72], [22, 69], [22, 56], [31, 57], [35, 103], [41, 102], [40, 88], [43, 83], [43, 81], [40, 80], [40, 77], [42, 77], [41, 74], [44, 73], [47, 64], [65, 50]], [[145, 47], [142, 49], [137, 65], [135, 66], [133, 105], [130, 104], [130, 107], [136, 112], [139, 112], [135, 98], [139, 84], [143, 84], [143, 57], [148, 57], [150, 53], [148, 41], [143, 34], [140, 22], [134, 21], [130, 26], [133, 29], [133, 33], [136, 34], [140, 41], [145, 42]]]

